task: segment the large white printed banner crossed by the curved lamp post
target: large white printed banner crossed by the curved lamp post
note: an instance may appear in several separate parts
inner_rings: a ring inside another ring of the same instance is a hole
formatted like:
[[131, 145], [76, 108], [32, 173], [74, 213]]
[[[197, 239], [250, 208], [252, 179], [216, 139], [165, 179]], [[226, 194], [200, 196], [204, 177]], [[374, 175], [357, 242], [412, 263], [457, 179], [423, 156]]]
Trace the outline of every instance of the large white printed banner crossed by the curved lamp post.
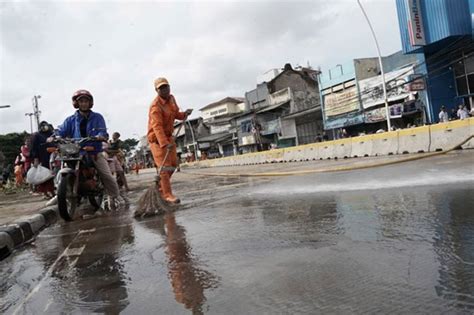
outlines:
[[[412, 67], [405, 67], [385, 74], [389, 102], [404, 99], [410, 95], [407, 82], [412, 74]], [[359, 81], [359, 88], [364, 109], [385, 103], [381, 75]]]

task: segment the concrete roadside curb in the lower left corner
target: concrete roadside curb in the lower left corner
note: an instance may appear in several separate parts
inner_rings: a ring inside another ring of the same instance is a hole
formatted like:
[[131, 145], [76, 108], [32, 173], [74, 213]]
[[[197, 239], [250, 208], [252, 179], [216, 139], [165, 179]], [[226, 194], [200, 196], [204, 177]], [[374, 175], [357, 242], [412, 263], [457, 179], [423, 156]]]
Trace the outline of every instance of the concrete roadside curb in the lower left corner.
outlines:
[[0, 226], [0, 260], [10, 256], [14, 249], [32, 242], [41, 230], [57, 219], [57, 207], [49, 207], [31, 217]]

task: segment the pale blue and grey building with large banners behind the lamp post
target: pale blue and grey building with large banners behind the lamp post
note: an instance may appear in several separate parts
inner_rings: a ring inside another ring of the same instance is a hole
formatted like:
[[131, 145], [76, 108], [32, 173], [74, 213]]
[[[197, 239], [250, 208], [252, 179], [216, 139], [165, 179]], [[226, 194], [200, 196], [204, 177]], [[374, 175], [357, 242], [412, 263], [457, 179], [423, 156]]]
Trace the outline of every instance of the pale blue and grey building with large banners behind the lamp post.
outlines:
[[[418, 65], [422, 63], [419, 58], [419, 55], [406, 56], [401, 52], [382, 58], [390, 119], [397, 127], [413, 123], [416, 117], [423, 120], [424, 98], [419, 97], [418, 92], [409, 91], [410, 77], [418, 72]], [[359, 58], [321, 74], [319, 86], [328, 138], [337, 138], [342, 128], [350, 135], [386, 129], [380, 73], [378, 58]]]

